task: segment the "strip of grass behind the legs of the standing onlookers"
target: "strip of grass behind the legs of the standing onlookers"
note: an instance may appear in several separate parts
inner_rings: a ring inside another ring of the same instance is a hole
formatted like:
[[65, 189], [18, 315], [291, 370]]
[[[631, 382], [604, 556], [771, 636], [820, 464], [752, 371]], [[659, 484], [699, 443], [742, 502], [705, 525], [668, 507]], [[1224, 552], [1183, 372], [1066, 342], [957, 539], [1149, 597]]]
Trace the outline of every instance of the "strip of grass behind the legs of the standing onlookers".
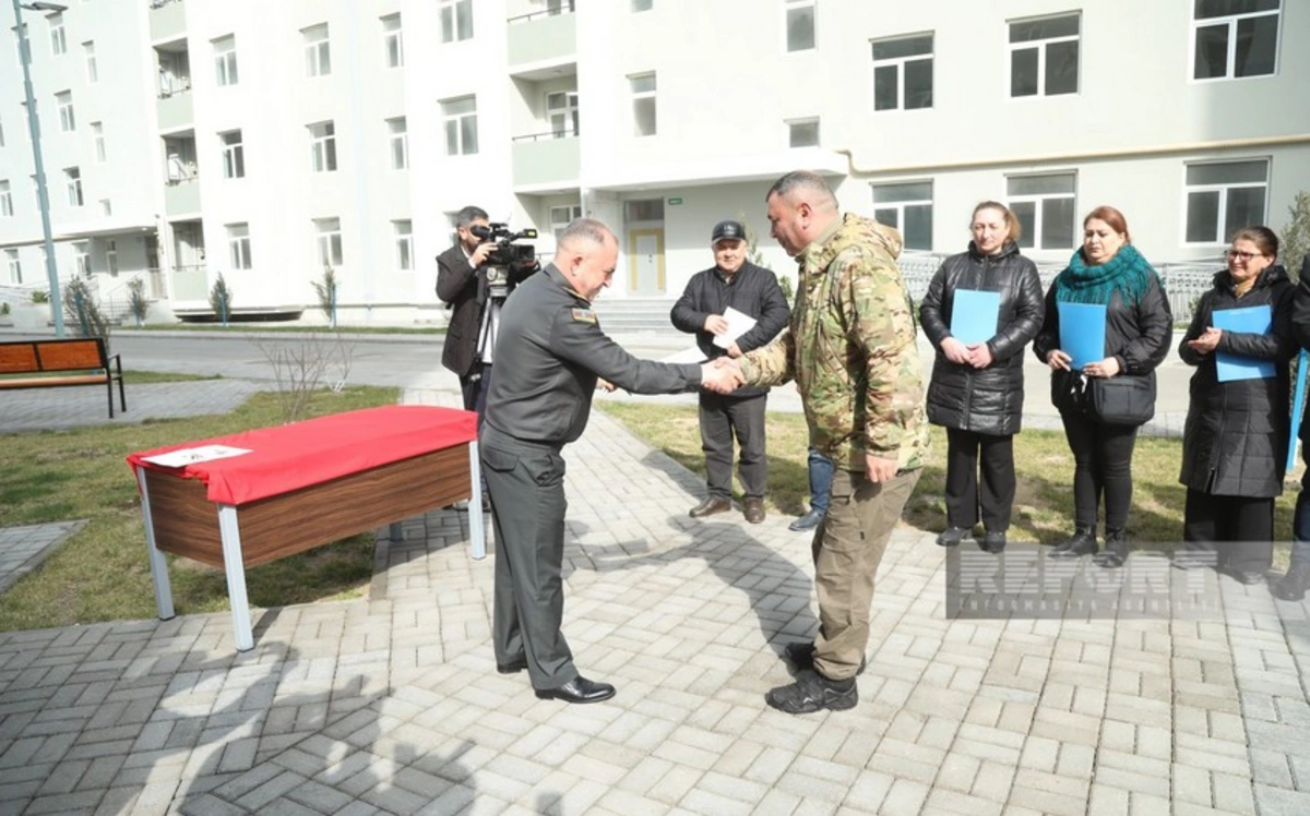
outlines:
[[[597, 403], [627, 426], [633, 434], [662, 449], [675, 461], [705, 475], [705, 454], [696, 409], [641, 402]], [[806, 468], [808, 432], [804, 417], [770, 413], [769, 495], [770, 513], [789, 516], [808, 510], [810, 479]], [[1128, 516], [1129, 540], [1138, 546], [1169, 549], [1183, 537], [1183, 506], [1187, 490], [1178, 482], [1183, 441], [1138, 437], [1133, 452], [1133, 506]], [[1023, 431], [1014, 437], [1018, 490], [1010, 538], [1052, 544], [1073, 532], [1073, 456], [1061, 431]], [[946, 432], [931, 428], [931, 451], [918, 487], [905, 507], [903, 523], [938, 532], [946, 527]], [[740, 495], [740, 491], [738, 491]], [[1275, 542], [1273, 562], [1286, 568], [1292, 537], [1296, 489], [1285, 490], [1275, 503], [1275, 530], [1285, 541]]]

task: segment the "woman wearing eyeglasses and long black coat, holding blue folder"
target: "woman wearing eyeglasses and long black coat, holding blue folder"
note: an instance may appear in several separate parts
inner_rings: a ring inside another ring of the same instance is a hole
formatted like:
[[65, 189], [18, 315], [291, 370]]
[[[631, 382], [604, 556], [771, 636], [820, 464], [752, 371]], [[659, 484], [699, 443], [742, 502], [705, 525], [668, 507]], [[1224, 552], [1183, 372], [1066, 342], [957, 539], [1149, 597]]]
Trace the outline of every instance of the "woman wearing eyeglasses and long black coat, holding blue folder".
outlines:
[[1296, 289], [1277, 255], [1272, 229], [1239, 229], [1178, 347], [1196, 373], [1178, 477], [1187, 486], [1186, 550], [1174, 566], [1221, 567], [1243, 584], [1263, 583], [1269, 568], [1288, 449]]

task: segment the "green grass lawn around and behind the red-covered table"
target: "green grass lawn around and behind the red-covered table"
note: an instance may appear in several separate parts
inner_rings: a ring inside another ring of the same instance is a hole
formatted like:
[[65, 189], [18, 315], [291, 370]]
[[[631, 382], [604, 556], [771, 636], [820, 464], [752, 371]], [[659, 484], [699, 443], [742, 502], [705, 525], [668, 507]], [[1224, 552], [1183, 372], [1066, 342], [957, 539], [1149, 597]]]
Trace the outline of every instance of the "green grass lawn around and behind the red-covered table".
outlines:
[[[307, 418], [396, 401], [396, 389], [324, 390], [313, 396]], [[0, 630], [153, 618], [145, 532], [127, 454], [280, 422], [276, 394], [262, 393], [228, 415], [4, 436], [0, 527], [88, 523], [39, 570], [0, 595]], [[228, 608], [221, 570], [172, 555], [169, 562], [178, 614]], [[246, 574], [250, 603], [267, 608], [359, 597], [372, 567], [372, 534], [355, 536], [253, 567]]]

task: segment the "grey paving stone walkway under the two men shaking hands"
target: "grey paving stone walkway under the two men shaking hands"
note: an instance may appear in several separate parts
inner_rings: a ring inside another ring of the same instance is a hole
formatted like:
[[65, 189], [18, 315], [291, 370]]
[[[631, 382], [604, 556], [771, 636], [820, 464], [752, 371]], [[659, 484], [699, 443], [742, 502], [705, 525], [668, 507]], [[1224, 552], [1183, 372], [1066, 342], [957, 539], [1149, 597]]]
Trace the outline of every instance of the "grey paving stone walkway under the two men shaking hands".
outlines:
[[493, 558], [439, 511], [369, 600], [254, 610], [246, 654], [227, 614], [0, 634], [0, 812], [1310, 813], [1305, 604], [1208, 574], [1210, 614], [948, 620], [905, 528], [859, 705], [789, 716], [808, 538], [688, 519], [700, 481], [604, 414], [565, 456], [565, 631], [614, 699], [495, 672]]

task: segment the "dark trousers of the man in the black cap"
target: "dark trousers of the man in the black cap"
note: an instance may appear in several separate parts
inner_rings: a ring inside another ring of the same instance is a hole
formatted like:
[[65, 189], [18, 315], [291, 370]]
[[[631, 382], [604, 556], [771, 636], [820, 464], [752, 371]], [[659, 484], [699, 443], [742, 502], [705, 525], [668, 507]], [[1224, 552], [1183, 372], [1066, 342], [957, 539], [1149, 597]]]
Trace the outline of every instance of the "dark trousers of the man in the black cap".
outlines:
[[769, 461], [764, 452], [764, 409], [769, 394], [726, 397], [701, 392], [701, 449], [705, 451], [705, 483], [710, 496], [732, 496], [732, 436], [741, 445], [738, 474], [741, 492], [764, 496]]

